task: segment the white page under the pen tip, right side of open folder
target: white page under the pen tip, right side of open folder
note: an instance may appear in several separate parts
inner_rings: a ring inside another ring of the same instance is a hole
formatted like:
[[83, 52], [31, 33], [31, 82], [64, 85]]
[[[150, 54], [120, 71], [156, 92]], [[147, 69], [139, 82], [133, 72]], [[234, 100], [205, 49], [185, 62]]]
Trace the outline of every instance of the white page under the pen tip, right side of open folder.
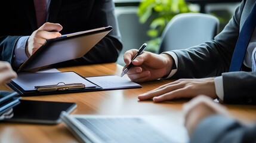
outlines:
[[86, 77], [87, 80], [90, 80], [92, 83], [100, 86], [103, 89], [119, 89], [119, 88], [135, 88], [141, 87], [138, 83], [132, 82], [128, 79], [124, 79], [119, 76], [110, 75], [110, 76], [94, 76]]

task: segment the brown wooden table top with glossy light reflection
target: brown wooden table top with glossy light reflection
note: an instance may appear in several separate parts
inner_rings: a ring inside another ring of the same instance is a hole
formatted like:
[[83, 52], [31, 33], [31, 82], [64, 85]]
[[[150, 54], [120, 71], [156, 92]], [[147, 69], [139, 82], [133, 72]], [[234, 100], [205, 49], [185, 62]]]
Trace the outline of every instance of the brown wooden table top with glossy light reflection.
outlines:
[[[60, 71], [76, 71], [82, 76], [101, 76], [107, 74], [119, 75], [122, 66], [115, 63], [96, 64], [90, 66], [65, 67]], [[125, 75], [125, 78], [128, 78]], [[113, 91], [83, 92], [75, 94], [45, 95], [23, 97], [23, 100], [66, 101], [76, 102], [78, 107], [72, 114], [100, 114], [100, 115], [146, 115], [159, 116], [178, 125], [183, 125], [182, 105], [187, 100], [153, 103], [152, 101], [138, 101], [137, 95], [170, 82], [158, 80], [141, 83], [143, 88]], [[11, 90], [5, 85], [1, 90]], [[256, 106], [227, 105], [227, 108], [238, 119], [245, 122], [256, 120]], [[68, 129], [60, 123], [58, 125], [33, 125], [22, 123], [0, 123], [0, 142], [78, 142]]]

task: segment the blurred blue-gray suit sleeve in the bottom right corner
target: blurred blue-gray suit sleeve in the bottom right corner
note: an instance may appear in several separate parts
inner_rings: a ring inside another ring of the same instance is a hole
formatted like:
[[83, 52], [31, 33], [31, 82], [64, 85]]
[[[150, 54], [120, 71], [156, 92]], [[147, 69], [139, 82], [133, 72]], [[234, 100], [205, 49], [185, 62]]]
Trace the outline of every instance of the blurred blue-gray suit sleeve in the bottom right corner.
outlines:
[[193, 132], [190, 143], [256, 142], [256, 124], [244, 126], [236, 120], [214, 115], [203, 119]]

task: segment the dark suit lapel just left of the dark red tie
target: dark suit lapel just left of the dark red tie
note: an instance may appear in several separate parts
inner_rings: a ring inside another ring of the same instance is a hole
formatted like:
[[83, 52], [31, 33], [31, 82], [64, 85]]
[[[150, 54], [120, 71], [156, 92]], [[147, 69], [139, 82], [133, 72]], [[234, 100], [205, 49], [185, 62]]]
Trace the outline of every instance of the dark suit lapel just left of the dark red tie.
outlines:
[[33, 31], [38, 29], [36, 24], [36, 14], [35, 14], [35, 7], [34, 7], [33, 0], [24, 0], [22, 4], [24, 4], [23, 7], [26, 9], [27, 17], [29, 17], [29, 23], [30, 23], [31, 29]]

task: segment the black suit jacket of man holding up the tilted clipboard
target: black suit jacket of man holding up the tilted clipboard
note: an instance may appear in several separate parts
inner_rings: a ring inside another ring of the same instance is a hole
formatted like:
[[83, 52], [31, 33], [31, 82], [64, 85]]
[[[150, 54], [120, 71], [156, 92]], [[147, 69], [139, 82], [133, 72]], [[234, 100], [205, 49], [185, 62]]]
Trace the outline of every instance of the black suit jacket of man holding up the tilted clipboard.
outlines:
[[[60, 23], [61, 34], [79, 32], [103, 26], [113, 30], [84, 57], [64, 62], [94, 64], [115, 62], [122, 49], [121, 36], [112, 0], [51, 0], [48, 22]], [[14, 46], [20, 36], [29, 36], [38, 29], [33, 0], [8, 0], [0, 6], [0, 60], [13, 63]]]

